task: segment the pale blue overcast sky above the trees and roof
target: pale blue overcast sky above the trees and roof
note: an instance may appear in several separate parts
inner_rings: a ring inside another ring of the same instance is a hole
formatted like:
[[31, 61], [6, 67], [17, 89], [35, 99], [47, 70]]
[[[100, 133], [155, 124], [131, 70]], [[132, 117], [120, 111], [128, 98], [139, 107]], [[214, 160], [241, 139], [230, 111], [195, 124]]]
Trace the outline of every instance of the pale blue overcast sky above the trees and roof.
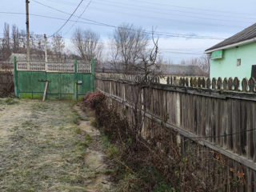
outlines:
[[[19, 29], [25, 30], [26, 0], [0, 2], [0, 37], [4, 22], [16, 24]], [[69, 15], [42, 6], [38, 2], [72, 13], [81, 0], [30, 0], [30, 30], [35, 34], [51, 35], [63, 25]], [[75, 22], [78, 18], [71, 18], [71, 22], [60, 33], [67, 39], [68, 44], [74, 29], [81, 27], [98, 32], [102, 41], [107, 42], [114, 30], [110, 26], [129, 22], [134, 26], [142, 26], [145, 30], [152, 30], [154, 27], [162, 34], [159, 36], [162, 55], [178, 63], [182, 58], [200, 56], [204, 50], [222, 41], [222, 38], [228, 38], [254, 24], [255, 7], [254, 0], [84, 0], [75, 13], [79, 16], [84, 12], [82, 17], [78, 22]], [[107, 46], [105, 47], [107, 50]]]

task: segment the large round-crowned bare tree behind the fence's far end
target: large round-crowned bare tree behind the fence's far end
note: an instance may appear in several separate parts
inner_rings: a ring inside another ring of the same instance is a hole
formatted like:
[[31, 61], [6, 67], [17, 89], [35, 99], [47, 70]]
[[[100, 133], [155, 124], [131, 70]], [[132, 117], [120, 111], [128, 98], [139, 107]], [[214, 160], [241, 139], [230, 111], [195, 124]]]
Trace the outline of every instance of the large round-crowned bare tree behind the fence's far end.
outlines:
[[111, 42], [113, 59], [122, 65], [119, 69], [130, 70], [141, 59], [148, 45], [148, 34], [142, 28], [122, 24], [114, 30]]

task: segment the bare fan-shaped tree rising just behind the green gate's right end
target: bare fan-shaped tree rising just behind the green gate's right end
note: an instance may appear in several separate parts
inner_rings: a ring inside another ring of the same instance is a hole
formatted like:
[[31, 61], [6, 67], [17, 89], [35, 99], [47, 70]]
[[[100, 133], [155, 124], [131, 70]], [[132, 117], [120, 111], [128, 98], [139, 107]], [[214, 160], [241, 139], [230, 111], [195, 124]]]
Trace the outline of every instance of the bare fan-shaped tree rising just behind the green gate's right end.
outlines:
[[100, 42], [99, 34], [91, 30], [81, 30], [78, 28], [74, 31], [72, 42], [78, 54], [84, 60], [101, 60], [103, 44]]

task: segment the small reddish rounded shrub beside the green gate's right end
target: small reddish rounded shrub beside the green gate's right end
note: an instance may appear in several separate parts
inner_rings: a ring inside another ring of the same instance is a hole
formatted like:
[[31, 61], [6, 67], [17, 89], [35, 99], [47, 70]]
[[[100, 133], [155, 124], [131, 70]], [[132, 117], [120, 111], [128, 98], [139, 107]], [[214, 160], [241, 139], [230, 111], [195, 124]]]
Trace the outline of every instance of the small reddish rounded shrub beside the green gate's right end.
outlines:
[[95, 109], [95, 107], [102, 103], [102, 101], [104, 100], [105, 96], [104, 94], [102, 94], [102, 92], [100, 91], [96, 91], [96, 92], [88, 92], [86, 94], [86, 96], [83, 98], [83, 100], [86, 103], [86, 106]]

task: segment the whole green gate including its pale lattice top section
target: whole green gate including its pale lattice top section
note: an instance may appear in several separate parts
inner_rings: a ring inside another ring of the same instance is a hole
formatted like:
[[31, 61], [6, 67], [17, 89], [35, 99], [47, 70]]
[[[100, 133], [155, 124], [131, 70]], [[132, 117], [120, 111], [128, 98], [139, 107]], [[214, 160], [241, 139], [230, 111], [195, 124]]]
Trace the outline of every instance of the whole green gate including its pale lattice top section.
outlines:
[[[47, 84], [47, 85], [46, 85]], [[17, 61], [14, 58], [14, 92], [19, 98], [81, 99], [94, 91], [94, 60]]]

